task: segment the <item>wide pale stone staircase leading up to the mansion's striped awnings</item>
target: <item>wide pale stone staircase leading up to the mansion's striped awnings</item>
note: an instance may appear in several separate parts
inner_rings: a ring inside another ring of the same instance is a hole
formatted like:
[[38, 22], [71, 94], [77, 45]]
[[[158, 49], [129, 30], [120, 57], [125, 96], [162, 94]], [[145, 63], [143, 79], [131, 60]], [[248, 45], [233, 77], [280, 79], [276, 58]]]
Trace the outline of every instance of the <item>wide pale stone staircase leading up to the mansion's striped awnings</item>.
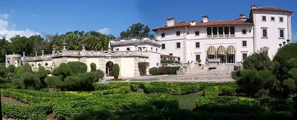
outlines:
[[[216, 69], [209, 70], [209, 67], [216, 67]], [[162, 81], [234, 81], [228, 76], [230, 65], [205, 65], [194, 66], [188, 73], [178, 75], [159, 75], [154, 78]]]

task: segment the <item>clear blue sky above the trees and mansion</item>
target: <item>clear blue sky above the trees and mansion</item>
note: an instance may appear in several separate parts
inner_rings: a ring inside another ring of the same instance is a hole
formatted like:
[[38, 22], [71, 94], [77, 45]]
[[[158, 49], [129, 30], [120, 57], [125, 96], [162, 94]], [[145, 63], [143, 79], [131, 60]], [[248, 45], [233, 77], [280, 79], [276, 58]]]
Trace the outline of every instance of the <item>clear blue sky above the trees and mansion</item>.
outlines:
[[[202, 20], [204, 14], [211, 20], [235, 19], [242, 13], [248, 16], [251, 4], [297, 12], [297, 0], [0, 0], [0, 35], [5, 27], [13, 31], [10, 34], [101, 29], [118, 36], [133, 23], [154, 28], [165, 24], [169, 16], [177, 21]], [[296, 20], [293, 13], [297, 41]], [[8, 25], [3, 25], [4, 21]]]

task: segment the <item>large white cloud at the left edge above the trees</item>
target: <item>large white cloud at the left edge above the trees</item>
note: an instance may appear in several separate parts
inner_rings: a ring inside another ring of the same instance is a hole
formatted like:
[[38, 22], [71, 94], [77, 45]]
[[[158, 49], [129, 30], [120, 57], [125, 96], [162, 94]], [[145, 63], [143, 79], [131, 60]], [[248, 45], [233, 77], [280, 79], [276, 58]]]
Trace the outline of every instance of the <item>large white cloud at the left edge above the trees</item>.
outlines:
[[25, 30], [15, 30], [15, 24], [9, 25], [8, 14], [0, 14], [0, 37], [5, 36], [6, 39], [9, 40], [10, 37], [13, 37], [17, 34], [20, 36], [31, 36], [34, 34], [40, 34], [39, 32], [35, 32], [29, 29]]

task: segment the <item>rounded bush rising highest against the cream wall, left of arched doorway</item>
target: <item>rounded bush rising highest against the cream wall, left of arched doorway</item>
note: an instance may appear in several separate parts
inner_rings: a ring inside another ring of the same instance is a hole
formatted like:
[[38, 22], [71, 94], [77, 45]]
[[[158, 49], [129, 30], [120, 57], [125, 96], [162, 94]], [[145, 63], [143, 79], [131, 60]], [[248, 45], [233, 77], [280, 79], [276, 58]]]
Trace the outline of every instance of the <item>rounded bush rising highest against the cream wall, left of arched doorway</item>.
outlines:
[[73, 74], [87, 72], [88, 66], [80, 61], [69, 61], [67, 62]]

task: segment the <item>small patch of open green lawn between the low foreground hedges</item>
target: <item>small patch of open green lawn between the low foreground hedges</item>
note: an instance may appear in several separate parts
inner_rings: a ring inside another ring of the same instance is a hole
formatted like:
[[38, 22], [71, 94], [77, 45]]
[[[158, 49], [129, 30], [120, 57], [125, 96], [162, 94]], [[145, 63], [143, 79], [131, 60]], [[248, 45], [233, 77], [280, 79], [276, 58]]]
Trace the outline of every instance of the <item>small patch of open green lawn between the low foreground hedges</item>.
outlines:
[[198, 91], [196, 93], [185, 94], [185, 95], [175, 95], [179, 99], [179, 106], [184, 109], [195, 108], [195, 100], [203, 94], [203, 91]]

